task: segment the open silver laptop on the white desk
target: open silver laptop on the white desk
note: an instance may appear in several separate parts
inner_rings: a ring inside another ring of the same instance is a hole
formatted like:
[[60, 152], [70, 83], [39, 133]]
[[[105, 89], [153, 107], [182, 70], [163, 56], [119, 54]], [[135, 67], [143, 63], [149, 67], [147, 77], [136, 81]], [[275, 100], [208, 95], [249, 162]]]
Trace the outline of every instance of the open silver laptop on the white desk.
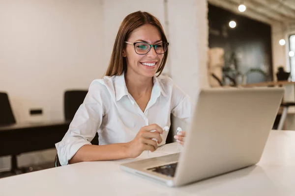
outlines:
[[259, 162], [283, 88], [201, 90], [181, 153], [120, 168], [168, 186], [181, 186]]

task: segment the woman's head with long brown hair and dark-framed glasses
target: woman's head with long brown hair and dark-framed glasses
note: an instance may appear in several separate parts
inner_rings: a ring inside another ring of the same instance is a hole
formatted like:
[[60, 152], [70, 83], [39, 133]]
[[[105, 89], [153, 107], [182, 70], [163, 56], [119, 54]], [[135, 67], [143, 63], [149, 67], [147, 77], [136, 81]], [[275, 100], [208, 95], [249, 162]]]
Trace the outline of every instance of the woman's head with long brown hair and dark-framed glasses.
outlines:
[[[135, 68], [134, 63], [155, 63], [155, 72], [150, 72], [149, 76], [156, 72], [160, 75], [167, 61], [168, 45], [163, 27], [157, 18], [147, 12], [129, 14], [119, 27], [106, 75], [120, 75], [128, 67]], [[129, 59], [137, 62], [130, 62]], [[127, 67], [127, 64], [130, 66]], [[144, 74], [140, 69], [137, 71]]]

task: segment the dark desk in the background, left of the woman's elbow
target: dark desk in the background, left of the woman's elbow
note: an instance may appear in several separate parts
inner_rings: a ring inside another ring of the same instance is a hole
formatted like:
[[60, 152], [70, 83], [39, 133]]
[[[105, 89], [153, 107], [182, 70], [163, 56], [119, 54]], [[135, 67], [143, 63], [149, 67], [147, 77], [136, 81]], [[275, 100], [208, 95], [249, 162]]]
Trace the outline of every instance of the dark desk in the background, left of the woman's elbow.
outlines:
[[[54, 148], [68, 130], [70, 122], [17, 123], [0, 126], [0, 156]], [[11, 172], [17, 173], [17, 160], [12, 157]]]

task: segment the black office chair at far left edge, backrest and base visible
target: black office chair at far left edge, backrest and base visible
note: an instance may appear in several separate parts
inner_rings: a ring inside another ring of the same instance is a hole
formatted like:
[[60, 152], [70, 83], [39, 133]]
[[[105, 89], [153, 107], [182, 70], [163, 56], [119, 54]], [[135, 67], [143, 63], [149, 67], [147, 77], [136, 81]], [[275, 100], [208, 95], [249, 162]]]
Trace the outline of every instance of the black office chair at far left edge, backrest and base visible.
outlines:
[[[15, 118], [12, 112], [10, 101], [7, 93], [0, 92], [0, 126], [15, 124]], [[0, 175], [6, 174], [19, 174], [26, 172], [25, 168], [18, 168], [17, 166], [17, 154], [11, 155], [11, 169], [8, 172], [0, 172]]]

